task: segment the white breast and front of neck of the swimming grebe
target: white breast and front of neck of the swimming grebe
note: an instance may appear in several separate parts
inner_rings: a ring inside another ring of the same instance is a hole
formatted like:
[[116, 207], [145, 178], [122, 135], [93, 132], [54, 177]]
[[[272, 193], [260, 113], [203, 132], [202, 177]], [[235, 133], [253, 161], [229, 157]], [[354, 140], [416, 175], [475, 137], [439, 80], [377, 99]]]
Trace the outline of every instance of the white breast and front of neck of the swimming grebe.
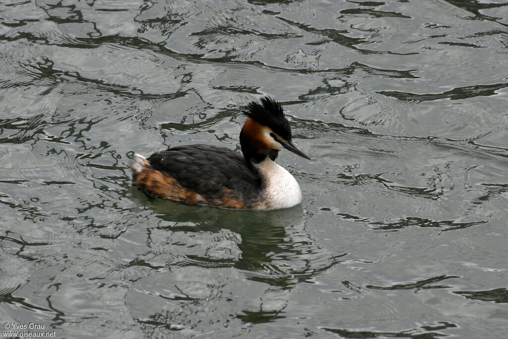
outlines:
[[283, 209], [302, 202], [300, 186], [285, 168], [268, 157], [255, 166], [266, 184], [264, 192], [266, 204], [261, 209]]

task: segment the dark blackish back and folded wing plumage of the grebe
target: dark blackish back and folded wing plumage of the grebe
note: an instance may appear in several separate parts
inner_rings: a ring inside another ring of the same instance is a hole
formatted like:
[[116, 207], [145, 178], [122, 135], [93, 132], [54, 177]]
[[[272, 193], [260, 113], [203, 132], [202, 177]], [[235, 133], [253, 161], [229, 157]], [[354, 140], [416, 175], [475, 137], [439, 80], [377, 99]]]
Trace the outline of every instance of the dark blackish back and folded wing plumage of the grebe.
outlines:
[[252, 198], [261, 191], [261, 179], [245, 164], [241, 154], [225, 147], [188, 145], [153, 153], [153, 169], [175, 178], [183, 187], [207, 197], [223, 188]]

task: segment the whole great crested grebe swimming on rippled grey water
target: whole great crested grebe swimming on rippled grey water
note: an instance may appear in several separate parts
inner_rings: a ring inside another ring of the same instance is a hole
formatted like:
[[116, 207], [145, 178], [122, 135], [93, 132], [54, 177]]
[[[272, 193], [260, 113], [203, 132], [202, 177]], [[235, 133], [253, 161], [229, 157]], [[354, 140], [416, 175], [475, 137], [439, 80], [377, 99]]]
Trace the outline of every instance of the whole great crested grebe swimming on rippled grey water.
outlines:
[[228, 209], [274, 210], [302, 201], [295, 178], [274, 160], [283, 148], [306, 159], [291, 139], [282, 106], [268, 96], [251, 101], [240, 132], [243, 156], [225, 147], [172, 147], [145, 158], [136, 154], [132, 168], [137, 189], [164, 199]]

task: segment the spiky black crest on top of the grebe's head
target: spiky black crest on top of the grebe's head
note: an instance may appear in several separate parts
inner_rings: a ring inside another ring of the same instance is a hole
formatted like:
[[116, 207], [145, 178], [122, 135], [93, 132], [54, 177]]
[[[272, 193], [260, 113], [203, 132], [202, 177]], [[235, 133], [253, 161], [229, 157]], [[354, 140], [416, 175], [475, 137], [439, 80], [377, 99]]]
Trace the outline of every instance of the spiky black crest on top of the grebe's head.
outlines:
[[282, 106], [269, 96], [264, 96], [260, 100], [261, 104], [258, 101], [250, 101], [247, 110], [243, 113], [260, 124], [270, 127], [282, 138], [290, 141], [291, 127]]

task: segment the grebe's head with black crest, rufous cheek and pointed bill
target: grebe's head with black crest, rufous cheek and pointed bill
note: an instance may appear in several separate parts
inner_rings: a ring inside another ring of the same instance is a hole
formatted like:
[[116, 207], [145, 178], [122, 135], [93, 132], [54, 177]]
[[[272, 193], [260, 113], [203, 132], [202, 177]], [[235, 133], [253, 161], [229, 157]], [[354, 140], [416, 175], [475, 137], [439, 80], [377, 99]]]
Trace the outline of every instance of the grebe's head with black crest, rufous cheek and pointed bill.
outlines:
[[251, 101], [244, 114], [247, 120], [240, 132], [240, 145], [246, 160], [261, 162], [267, 156], [275, 160], [282, 147], [310, 160], [291, 139], [291, 126], [277, 101], [269, 96], [262, 97], [261, 103]]

